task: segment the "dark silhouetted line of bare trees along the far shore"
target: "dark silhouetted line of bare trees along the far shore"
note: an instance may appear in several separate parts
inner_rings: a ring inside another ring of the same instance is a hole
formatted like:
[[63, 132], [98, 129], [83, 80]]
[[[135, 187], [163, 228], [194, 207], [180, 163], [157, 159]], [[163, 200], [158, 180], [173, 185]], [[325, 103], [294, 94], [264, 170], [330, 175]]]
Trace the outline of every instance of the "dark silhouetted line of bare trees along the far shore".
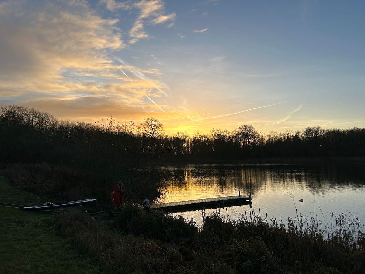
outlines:
[[158, 160], [243, 160], [266, 157], [365, 156], [365, 128], [263, 133], [252, 125], [229, 132], [166, 135], [156, 118], [68, 122], [23, 106], [0, 109], [1, 163], [64, 163], [93, 169], [131, 168]]

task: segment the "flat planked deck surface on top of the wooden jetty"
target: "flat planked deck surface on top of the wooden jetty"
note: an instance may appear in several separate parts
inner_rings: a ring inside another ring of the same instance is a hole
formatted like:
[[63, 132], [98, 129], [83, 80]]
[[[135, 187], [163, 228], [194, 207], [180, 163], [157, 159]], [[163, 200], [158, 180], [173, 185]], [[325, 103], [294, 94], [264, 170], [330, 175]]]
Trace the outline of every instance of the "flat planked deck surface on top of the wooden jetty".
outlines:
[[198, 199], [198, 200], [190, 200], [190, 201], [179, 201], [179, 202], [170, 202], [170, 203], [157, 203], [150, 205], [151, 209], [171, 209], [171, 208], [189, 208], [193, 206], [204, 206], [204, 205], [224, 205], [226, 203], [234, 203], [234, 202], [246, 202], [249, 201], [248, 196], [228, 196], [228, 197], [215, 197], [215, 198], [206, 198], [206, 199]]

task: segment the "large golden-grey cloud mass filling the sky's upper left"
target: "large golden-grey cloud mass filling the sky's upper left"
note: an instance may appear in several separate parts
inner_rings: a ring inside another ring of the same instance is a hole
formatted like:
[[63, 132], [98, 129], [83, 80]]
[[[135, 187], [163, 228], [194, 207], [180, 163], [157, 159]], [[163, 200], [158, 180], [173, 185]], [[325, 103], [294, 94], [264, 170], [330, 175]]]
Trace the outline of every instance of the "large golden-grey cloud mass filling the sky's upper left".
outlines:
[[166, 85], [146, 76], [161, 75], [158, 69], [114, 63], [109, 53], [126, 46], [118, 19], [103, 19], [86, 1], [9, 1], [0, 12], [1, 104], [107, 96], [143, 109], [146, 96], [166, 94]]

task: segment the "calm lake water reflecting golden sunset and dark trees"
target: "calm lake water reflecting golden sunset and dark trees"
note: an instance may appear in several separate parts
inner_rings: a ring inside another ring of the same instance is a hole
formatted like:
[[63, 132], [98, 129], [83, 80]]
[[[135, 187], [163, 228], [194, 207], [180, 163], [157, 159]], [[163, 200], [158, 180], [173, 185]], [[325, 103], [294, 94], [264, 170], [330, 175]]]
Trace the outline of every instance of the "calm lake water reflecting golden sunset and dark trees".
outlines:
[[[237, 217], [245, 210], [258, 213], [260, 207], [261, 214], [286, 220], [296, 217], [296, 206], [298, 214], [316, 213], [319, 220], [332, 212], [365, 218], [365, 164], [164, 166], [160, 176], [164, 195], [159, 202], [231, 196], [238, 191], [252, 195], [252, 208], [231, 206], [206, 213], [219, 210], [224, 216]], [[294, 196], [295, 205], [288, 193]], [[201, 210], [179, 214], [201, 223]]]

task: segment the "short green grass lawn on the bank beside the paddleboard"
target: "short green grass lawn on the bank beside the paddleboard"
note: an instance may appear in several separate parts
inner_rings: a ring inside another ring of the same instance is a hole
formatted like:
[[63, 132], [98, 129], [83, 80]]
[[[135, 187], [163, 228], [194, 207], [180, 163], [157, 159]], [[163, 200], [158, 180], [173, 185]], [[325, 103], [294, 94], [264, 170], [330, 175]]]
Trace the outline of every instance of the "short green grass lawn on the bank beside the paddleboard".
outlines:
[[[0, 176], [0, 202], [43, 201], [47, 199], [12, 187]], [[0, 207], [0, 224], [1, 273], [101, 273], [57, 234], [52, 213]]]

